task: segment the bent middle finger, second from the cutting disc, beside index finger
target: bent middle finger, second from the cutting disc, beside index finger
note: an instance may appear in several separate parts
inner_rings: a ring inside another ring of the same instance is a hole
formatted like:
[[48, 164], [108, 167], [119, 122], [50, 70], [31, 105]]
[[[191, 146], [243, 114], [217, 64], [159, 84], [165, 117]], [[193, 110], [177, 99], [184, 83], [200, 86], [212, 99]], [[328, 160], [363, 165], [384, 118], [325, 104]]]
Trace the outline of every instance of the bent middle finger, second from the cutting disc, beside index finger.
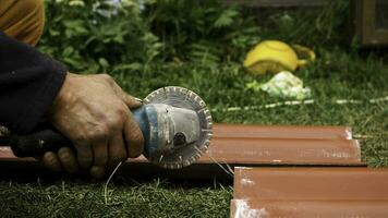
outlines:
[[124, 161], [128, 158], [123, 134], [121, 131], [111, 137], [108, 146], [108, 166], [110, 168], [116, 167], [120, 161]]

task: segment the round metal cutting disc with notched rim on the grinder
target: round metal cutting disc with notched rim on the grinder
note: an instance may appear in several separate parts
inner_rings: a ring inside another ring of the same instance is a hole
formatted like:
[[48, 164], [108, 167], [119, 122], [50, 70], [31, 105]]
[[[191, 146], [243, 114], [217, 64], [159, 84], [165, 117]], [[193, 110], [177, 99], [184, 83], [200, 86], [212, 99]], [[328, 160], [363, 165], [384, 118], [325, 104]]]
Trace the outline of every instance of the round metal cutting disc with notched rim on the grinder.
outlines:
[[196, 112], [199, 120], [199, 140], [195, 143], [147, 157], [162, 168], [180, 169], [195, 162], [206, 153], [213, 136], [213, 119], [205, 101], [194, 92], [183, 87], [168, 86], [150, 93], [145, 104], [166, 104]]

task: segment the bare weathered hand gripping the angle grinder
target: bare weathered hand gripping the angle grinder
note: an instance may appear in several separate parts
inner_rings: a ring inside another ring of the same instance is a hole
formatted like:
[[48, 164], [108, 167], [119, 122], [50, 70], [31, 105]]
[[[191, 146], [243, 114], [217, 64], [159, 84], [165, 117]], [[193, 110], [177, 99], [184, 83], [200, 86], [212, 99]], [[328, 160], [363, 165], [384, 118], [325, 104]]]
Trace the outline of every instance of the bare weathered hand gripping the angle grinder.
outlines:
[[48, 118], [74, 143], [76, 154], [62, 147], [58, 154], [46, 153], [44, 165], [71, 173], [88, 170], [99, 178], [108, 167], [140, 156], [144, 138], [130, 111], [140, 106], [109, 75], [68, 73]]

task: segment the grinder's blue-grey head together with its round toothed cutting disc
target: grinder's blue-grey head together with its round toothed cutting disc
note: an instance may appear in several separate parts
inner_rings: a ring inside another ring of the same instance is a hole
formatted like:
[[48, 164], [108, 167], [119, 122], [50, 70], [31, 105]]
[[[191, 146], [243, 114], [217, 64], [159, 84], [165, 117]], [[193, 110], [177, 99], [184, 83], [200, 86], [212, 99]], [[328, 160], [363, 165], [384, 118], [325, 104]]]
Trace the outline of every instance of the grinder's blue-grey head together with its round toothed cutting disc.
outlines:
[[[198, 95], [169, 86], [150, 93], [144, 102], [133, 113], [145, 138], [144, 156], [150, 162], [179, 169], [206, 153], [213, 136], [213, 120]], [[180, 144], [181, 138], [184, 145]]]

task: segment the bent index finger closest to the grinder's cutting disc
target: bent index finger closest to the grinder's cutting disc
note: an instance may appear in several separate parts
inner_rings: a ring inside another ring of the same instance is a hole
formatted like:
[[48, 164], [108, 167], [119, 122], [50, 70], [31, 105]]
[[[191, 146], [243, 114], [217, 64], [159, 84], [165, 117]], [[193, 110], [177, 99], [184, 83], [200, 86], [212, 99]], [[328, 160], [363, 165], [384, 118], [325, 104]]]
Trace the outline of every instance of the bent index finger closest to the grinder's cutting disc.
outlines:
[[144, 137], [132, 113], [129, 113], [123, 129], [126, 143], [128, 156], [131, 158], [142, 155], [144, 149]]

